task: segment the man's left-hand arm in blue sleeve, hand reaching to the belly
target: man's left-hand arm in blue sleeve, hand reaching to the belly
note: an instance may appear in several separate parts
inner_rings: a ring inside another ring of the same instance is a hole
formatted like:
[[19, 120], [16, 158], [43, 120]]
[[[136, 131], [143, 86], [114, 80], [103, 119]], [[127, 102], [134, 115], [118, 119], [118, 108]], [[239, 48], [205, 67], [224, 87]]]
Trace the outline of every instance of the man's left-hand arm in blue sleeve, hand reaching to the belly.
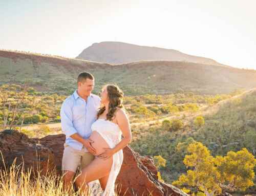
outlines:
[[60, 120], [61, 120], [61, 129], [67, 137], [71, 137], [74, 140], [83, 144], [92, 154], [96, 153], [95, 148], [91, 145], [94, 141], [91, 139], [83, 139], [75, 129], [73, 125], [73, 112], [71, 104], [65, 100], [60, 109]]

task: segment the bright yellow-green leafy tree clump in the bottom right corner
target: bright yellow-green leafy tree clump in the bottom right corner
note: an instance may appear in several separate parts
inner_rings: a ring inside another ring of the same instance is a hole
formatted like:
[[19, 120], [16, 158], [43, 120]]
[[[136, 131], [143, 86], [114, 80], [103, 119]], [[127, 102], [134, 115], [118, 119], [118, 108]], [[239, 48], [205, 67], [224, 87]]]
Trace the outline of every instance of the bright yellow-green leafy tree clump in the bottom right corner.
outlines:
[[246, 148], [234, 153], [228, 152], [226, 157], [210, 155], [209, 150], [200, 142], [189, 144], [183, 163], [190, 167], [173, 185], [197, 187], [207, 196], [220, 194], [222, 189], [245, 190], [253, 185], [256, 165], [254, 156]]

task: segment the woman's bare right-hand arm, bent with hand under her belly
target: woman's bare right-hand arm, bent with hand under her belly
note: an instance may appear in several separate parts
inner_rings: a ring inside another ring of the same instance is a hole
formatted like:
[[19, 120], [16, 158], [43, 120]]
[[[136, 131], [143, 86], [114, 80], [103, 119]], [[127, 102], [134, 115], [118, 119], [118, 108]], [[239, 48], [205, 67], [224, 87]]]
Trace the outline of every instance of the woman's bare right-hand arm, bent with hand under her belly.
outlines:
[[120, 149], [124, 148], [127, 144], [132, 141], [132, 132], [130, 127], [129, 118], [123, 110], [118, 110], [116, 113], [116, 120], [120, 127], [123, 135], [123, 139], [114, 148], [105, 148], [105, 151], [98, 157], [102, 159], [108, 159]]

